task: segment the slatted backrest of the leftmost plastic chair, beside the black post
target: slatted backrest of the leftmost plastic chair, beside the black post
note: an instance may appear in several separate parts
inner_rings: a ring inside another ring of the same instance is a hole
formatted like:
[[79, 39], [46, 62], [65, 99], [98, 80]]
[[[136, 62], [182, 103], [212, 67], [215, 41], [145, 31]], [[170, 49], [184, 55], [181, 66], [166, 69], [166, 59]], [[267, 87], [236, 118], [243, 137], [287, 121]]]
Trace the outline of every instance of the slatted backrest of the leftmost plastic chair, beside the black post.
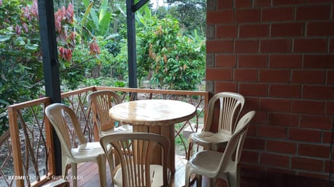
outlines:
[[[66, 106], [65, 104], [51, 104], [45, 108], [45, 114], [49, 118], [52, 127], [57, 133], [57, 136], [61, 142], [62, 152], [66, 154], [69, 158], [73, 158], [71, 149], [74, 147], [72, 143], [74, 140], [75, 135], [77, 136], [79, 143], [84, 144], [87, 143], [87, 140], [82, 133], [79, 120], [77, 115], [74, 113], [72, 108]], [[74, 129], [74, 137], [70, 137], [70, 126]]]

